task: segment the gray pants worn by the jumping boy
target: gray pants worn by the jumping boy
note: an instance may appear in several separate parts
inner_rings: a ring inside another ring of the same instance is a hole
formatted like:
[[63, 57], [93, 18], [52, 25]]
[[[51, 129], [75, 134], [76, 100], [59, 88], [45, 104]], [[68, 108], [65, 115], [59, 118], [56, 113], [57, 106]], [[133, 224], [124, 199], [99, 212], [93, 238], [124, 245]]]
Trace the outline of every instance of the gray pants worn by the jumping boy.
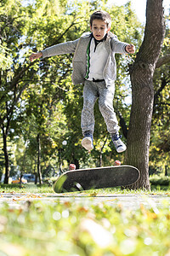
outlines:
[[94, 133], [94, 103], [99, 98], [99, 111], [105, 119], [107, 131], [115, 133], [119, 131], [116, 113], [113, 108], [113, 98], [115, 93], [115, 84], [105, 86], [103, 82], [85, 81], [83, 89], [83, 108], [82, 108], [82, 135], [85, 131]]

